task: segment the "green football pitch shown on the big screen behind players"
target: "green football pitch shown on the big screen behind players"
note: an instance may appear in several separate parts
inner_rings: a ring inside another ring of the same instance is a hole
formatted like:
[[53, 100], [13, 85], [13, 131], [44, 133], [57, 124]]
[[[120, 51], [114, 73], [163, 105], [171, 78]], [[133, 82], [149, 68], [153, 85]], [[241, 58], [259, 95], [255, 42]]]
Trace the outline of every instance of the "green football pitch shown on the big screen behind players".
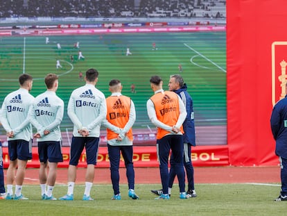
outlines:
[[[79, 42], [79, 48], [74, 44]], [[157, 49], [153, 49], [155, 42]], [[61, 49], [57, 44], [60, 43]], [[60, 76], [58, 95], [64, 100], [62, 131], [71, 131], [67, 103], [75, 88], [85, 81], [79, 73], [89, 68], [99, 72], [96, 87], [109, 96], [108, 84], [116, 78], [123, 83], [123, 94], [134, 101], [137, 120], [134, 128], [152, 126], [146, 101], [153, 94], [150, 76], [159, 75], [168, 90], [171, 74], [181, 74], [193, 97], [197, 126], [226, 125], [226, 35], [223, 32], [125, 33], [105, 35], [49, 35], [3, 37], [0, 39], [0, 99], [19, 87], [22, 73], [34, 78], [31, 94], [46, 90], [44, 76]], [[131, 55], [126, 55], [129, 48]], [[85, 59], [78, 60], [78, 51]], [[71, 60], [73, 56], [73, 60]], [[56, 60], [62, 68], [56, 69]], [[182, 65], [182, 72], [179, 72]], [[135, 93], [130, 86], [134, 84]], [[3, 129], [3, 128], [1, 128]]]

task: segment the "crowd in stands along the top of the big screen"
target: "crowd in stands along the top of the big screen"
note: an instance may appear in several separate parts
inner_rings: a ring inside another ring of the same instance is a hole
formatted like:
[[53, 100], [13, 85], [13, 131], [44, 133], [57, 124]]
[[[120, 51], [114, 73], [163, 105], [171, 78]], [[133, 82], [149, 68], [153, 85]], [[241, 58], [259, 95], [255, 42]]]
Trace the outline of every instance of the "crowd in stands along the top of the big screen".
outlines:
[[2, 17], [226, 17], [226, 0], [3, 1]]

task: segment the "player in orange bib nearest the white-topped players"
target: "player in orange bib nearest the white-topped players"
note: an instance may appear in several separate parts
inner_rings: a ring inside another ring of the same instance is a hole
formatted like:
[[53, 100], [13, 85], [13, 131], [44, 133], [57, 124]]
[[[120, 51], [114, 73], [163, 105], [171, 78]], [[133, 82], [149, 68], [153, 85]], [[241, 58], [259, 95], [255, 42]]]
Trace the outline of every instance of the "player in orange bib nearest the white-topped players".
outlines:
[[114, 189], [113, 200], [121, 199], [119, 190], [119, 164], [121, 154], [125, 161], [126, 176], [128, 178], [128, 197], [139, 199], [134, 192], [134, 165], [132, 163], [132, 125], [136, 119], [134, 103], [130, 97], [121, 94], [123, 86], [121, 81], [110, 81], [110, 92], [107, 97], [107, 119], [103, 126], [107, 127], [107, 150], [110, 158], [110, 171], [112, 187]]

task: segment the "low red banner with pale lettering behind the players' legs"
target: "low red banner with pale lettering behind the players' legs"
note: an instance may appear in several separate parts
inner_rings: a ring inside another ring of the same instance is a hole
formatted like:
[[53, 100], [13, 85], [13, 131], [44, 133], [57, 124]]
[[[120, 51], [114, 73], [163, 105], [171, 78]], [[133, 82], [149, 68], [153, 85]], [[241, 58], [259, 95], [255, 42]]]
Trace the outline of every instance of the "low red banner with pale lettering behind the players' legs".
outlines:
[[[68, 167], [69, 165], [69, 147], [63, 147], [62, 153], [64, 162], [59, 163], [58, 167]], [[134, 147], [134, 167], [157, 167], [157, 149], [153, 147]], [[226, 145], [193, 147], [191, 160], [194, 166], [225, 166], [229, 165], [228, 148]], [[86, 167], [85, 150], [80, 156], [78, 167]], [[9, 156], [8, 147], [3, 147], [3, 165], [8, 167]], [[124, 167], [121, 159], [121, 167]], [[28, 161], [27, 167], [37, 168], [40, 166], [37, 147], [33, 147], [33, 159]], [[110, 160], [107, 154], [107, 147], [100, 147], [98, 151], [98, 163], [96, 167], [110, 167]]]

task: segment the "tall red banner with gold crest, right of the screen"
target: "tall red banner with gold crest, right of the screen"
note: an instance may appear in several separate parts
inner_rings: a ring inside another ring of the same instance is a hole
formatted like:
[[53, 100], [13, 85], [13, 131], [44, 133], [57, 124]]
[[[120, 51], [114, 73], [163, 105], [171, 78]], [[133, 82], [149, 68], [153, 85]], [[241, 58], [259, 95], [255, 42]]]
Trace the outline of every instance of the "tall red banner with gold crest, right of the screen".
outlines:
[[[286, 79], [287, 2], [227, 2], [227, 143], [231, 165], [277, 165], [272, 106]], [[254, 18], [256, 17], [256, 18]]]

